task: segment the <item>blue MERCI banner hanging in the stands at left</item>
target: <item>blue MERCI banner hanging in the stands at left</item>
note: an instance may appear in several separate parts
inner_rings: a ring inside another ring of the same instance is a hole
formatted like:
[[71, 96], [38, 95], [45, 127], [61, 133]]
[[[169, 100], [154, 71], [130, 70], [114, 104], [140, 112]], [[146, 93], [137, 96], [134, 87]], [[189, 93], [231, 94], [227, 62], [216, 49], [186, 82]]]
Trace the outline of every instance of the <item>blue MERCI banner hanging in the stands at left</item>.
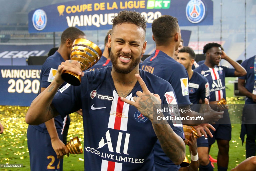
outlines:
[[47, 56], [53, 45], [1, 45], [0, 65], [28, 65], [30, 56]]

